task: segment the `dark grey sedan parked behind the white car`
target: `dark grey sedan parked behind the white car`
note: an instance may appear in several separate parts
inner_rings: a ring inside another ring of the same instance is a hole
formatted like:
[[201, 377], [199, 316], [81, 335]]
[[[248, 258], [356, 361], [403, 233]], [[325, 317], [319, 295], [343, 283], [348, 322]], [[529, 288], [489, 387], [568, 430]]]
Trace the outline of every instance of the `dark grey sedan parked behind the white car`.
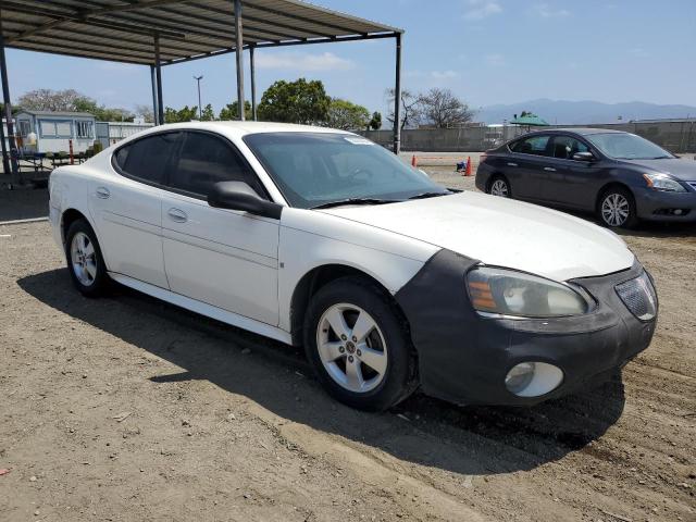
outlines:
[[611, 227], [696, 222], [696, 163], [634, 134], [537, 130], [481, 157], [476, 187], [494, 196], [595, 212]]

